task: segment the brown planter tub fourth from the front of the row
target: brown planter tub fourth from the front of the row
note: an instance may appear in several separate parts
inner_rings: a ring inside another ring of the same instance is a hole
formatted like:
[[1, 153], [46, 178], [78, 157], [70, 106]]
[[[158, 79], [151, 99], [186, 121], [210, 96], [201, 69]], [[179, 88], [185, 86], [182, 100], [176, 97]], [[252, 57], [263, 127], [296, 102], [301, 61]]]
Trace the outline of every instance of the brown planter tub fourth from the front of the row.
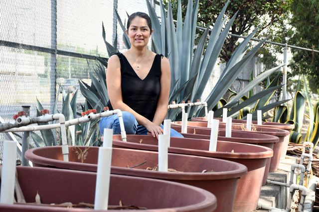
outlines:
[[[179, 133], [181, 132], [181, 126], [174, 126], [172, 124], [171, 128], [176, 130]], [[182, 135], [185, 138], [209, 140], [210, 132], [211, 132], [211, 129], [208, 129], [208, 128], [187, 127], [187, 134], [182, 133]], [[219, 134], [219, 136], [217, 137], [218, 141], [232, 141], [232, 142], [255, 144], [255, 145], [265, 146], [274, 150], [275, 157], [273, 156], [273, 157], [267, 158], [267, 161], [266, 161], [266, 167], [265, 167], [265, 172], [263, 175], [263, 182], [262, 182], [262, 185], [266, 185], [268, 173], [277, 171], [279, 167], [279, 162], [280, 162], [279, 148], [281, 148], [283, 144], [281, 142], [279, 143], [279, 145], [276, 145], [279, 141], [279, 138], [276, 136], [271, 136], [271, 135], [247, 133], [246, 131], [232, 131], [232, 137], [227, 138], [225, 137], [225, 134], [226, 134], [225, 130], [222, 130], [222, 129], [219, 130], [218, 134]]]

